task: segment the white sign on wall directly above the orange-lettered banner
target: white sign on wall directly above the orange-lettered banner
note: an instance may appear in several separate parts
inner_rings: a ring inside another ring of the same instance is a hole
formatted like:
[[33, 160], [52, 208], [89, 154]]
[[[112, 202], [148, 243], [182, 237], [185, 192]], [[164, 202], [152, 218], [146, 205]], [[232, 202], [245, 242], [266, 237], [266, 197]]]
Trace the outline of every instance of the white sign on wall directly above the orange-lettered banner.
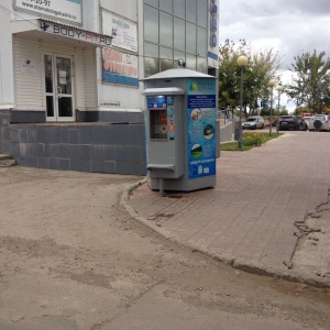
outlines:
[[113, 37], [112, 45], [138, 53], [136, 23], [102, 12], [103, 33]]

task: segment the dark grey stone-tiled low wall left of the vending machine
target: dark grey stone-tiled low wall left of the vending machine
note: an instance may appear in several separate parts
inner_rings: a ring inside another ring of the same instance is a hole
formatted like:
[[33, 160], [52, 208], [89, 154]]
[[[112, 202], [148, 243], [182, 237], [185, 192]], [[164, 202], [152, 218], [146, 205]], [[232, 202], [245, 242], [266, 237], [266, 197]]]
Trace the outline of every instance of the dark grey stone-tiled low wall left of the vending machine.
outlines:
[[0, 153], [12, 155], [21, 166], [129, 175], [146, 173], [143, 123], [2, 124], [0, 130]]

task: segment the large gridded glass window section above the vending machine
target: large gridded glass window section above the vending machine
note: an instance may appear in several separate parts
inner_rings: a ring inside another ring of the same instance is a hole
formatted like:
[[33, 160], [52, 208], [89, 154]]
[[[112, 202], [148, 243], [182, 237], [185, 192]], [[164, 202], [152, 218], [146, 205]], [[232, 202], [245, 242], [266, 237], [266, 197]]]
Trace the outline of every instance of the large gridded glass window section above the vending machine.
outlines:
[[186, 66], [207, 73], [208, 0], [144, 0], [144, 75]]

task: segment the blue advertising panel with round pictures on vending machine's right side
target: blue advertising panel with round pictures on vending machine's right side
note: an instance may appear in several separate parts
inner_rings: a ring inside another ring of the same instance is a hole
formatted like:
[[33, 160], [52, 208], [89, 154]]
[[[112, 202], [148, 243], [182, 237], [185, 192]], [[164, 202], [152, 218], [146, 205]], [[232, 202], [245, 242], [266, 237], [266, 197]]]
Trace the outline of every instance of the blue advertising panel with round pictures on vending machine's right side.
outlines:
[[188, 90], [189, 178], [216, 174], [216, 79], [191, 78]]

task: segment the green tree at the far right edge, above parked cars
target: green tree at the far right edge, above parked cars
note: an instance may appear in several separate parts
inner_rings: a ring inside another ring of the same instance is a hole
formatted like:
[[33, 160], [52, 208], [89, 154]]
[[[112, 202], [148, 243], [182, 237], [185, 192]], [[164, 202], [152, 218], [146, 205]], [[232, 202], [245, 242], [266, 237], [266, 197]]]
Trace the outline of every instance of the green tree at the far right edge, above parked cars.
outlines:
[[305, 106], [307, 112], [321, 113], [330, 103], [330, 59], [326, 53], [302, 53], [292, 64], [292, 84], [285, 91], [297, 108]]

